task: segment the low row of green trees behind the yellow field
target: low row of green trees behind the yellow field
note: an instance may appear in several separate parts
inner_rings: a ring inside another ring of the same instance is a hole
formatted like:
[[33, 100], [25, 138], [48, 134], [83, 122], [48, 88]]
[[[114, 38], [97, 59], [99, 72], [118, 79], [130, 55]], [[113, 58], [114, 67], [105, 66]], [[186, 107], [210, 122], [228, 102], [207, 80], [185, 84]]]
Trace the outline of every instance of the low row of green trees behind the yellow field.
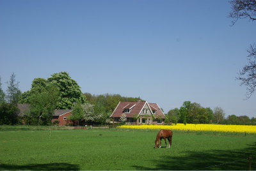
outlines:
[[221, 107], [215, 107], [214, 110], [202, 107], [199, 103], [184, 101], [182, 107], [169, 110], [166, 114], [165, 123], [169, 124], [252, 124], [256, 125], [256, 118], [250, 119], [248, 116], [228, 115], [225, 118], [225, 112]]

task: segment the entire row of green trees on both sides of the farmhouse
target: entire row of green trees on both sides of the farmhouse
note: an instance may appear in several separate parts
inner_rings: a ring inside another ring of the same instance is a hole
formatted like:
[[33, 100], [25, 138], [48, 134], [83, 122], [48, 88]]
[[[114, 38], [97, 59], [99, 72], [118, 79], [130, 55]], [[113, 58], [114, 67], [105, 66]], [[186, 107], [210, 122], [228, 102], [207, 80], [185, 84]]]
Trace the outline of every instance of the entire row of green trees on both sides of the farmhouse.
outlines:
[[[18, 103], [26, 103], [30, 106], [26, 114], [26, 124], [52, 124], [54, 109], [72, 109], [72, 116], [69, 119], [76, 124], [81, 121], [104, 124], [119, 101], [140, 100], [140, 98], [123, 97], [120, 94], [82, 93], [76, 80], [73, 80], [67, 72], [54, 73], [47, 79], [35, 78], [31, 89], [24, 93], [20, 92], [19, 82], [16, 82], [14, 73], [6, 83], [8, 88], [4, 93], [0, 77], [0, 124], [24, 123], [19, 119]], [[184, 101], [182, 107], [168, 111], [165, 123], [256, 124], [255, 120], [254, 117], [250, 119], [246, 115], [239, 117], [229, 115], [225, 118], [225, 112], [220, 107], [212, 110], [209, 107], [202, 107], [199, 103]]]

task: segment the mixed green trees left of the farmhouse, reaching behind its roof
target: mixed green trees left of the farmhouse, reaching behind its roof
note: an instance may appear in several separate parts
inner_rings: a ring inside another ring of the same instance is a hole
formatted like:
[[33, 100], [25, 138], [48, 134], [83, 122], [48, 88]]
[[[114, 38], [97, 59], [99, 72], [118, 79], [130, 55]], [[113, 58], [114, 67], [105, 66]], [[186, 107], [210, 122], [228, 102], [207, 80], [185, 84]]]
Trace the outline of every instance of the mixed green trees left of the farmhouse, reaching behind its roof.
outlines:
[[[122, 97], [119, 94], [92, 95], [82, 93], [81, 87], [67, 72], [54, 73], [51, 77], [35, 78], [31, 89], [24, 93], [13, 73], [4, 93], [0, 80], [0, 124], [50, 125], [54, 109], [72, 109], [70, 120], [74, 124], [105, 124], [119, 101], [137, 101], [138, 98]], [[29, 104], [23, 120], [19, 117], [18, 103]]]

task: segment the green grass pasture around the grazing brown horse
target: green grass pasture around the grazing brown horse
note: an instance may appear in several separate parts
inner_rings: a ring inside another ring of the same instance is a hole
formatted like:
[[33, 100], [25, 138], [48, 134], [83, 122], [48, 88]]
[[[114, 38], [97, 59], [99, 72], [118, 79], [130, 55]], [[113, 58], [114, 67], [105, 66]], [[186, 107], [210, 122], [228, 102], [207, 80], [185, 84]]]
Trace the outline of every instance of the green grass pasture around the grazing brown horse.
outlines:
[[0, 170], [247, 170], [256, 156], [255, 135], [178, 131], [170, 149], [154, 149], [156, 134], [0, 127]]

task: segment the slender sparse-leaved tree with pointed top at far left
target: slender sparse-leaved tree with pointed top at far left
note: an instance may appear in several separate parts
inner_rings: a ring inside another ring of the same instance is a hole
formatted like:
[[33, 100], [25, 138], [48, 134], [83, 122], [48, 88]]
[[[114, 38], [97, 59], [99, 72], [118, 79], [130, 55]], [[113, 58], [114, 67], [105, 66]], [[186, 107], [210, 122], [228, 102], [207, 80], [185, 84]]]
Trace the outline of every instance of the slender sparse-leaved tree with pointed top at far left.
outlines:
[[14, 73], [12, 73], [10, 80], [6, 82], [6, 84], [8, 85], [6, 101], [13, 105], [17, 105], [21, 92], [19, 89], [19, 82], [16, 82]]

